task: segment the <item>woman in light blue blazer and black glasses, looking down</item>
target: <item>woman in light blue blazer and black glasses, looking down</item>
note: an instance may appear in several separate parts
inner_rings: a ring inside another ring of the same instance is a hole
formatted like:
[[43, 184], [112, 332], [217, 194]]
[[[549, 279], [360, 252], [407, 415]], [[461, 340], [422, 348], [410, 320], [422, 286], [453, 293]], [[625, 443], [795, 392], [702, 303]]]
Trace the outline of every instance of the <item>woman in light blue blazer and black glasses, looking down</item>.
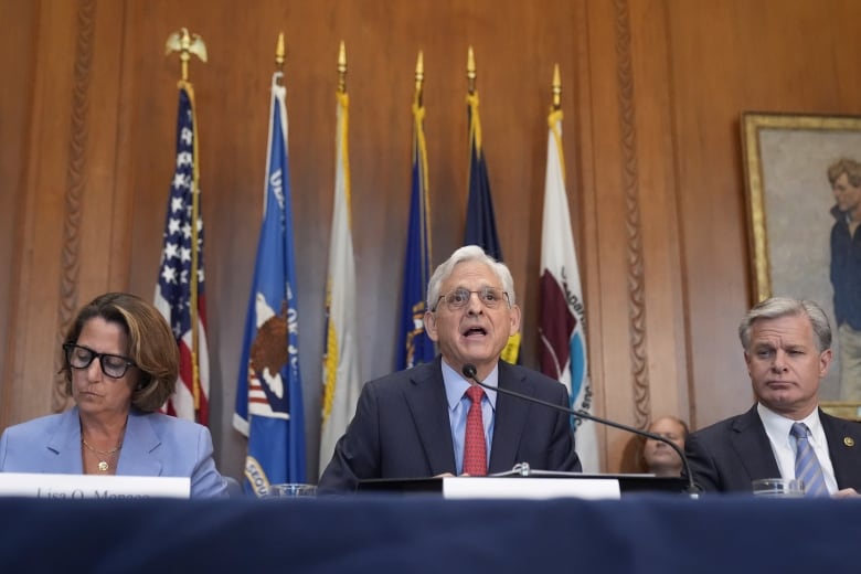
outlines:
[[191, 497], [226, 497], [206, 427], [157, 411], [179, 374], [177, 341], [152, 305], [108, 293], [78, 312], [62, 346], [74, 406], [11, 426], [0, 471], [189, 477]]

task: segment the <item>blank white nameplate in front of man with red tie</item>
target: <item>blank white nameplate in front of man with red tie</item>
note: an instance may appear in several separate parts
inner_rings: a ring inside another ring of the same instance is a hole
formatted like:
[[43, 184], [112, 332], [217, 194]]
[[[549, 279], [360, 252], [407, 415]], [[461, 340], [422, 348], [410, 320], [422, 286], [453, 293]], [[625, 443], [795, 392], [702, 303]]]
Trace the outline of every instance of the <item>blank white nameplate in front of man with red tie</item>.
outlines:
[[443, 479], [443, 498], [618, 499], [615, 478], [451, 477]]

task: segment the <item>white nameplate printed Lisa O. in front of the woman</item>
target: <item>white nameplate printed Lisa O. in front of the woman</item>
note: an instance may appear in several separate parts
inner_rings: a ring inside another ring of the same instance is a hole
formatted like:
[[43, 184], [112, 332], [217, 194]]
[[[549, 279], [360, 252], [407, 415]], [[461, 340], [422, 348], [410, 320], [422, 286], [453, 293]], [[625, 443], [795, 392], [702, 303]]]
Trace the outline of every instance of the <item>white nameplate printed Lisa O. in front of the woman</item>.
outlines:
[[0, 472], [0, 496], [31, 498], [189, 498], [188, 477], [125, 477]]

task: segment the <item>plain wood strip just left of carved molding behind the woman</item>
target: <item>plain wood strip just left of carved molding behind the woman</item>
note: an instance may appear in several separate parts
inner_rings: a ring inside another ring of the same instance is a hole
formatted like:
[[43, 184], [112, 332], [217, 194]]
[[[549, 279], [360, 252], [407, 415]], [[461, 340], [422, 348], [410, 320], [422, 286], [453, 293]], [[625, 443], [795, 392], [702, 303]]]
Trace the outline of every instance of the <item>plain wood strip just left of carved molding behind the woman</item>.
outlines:
[[7, 372], [11, 378], [8, 423], [45, 414], [52, 407], [54, 351], [60, 300], [60, 251], [64, 194], [71, 155], [72, 94], [77, 39], [77, 4], [39, 11], [36, 70], [26, 151], [20, 275], [10, 313]]

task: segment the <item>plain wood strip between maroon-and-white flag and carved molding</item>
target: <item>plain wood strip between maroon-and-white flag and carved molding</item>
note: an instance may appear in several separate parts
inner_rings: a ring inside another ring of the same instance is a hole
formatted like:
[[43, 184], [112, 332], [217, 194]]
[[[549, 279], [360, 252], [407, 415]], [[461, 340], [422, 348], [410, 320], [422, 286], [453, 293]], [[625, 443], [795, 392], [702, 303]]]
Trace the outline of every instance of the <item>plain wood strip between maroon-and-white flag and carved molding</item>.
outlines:
[[[623, 23], [618, 7], [610, 2], [587, 3], [585, 13], [592, 107], [584, 109], [584, 116], [589, 118], [592, 129], [583, 147], [584, 153], [591, 151], [589, 168], [594, 174], [586, 190], [586, 198], [594, 204], [594, 232], [585, 241], [587, 253], [595, 249], [596, 255], [587, 257], [585, 273], [592, 277], [592, 289], [584, 297], [588, 297], [589, 318], [598, 317], [591, 321], [587, 337], [593, 382], [603, 393], [603, 403], [596, 402], [595, 412], [630, 424], [634, 387], [628, 328], [627, 211], [623, 185], [625, 166], [619, 159], [623, 117], [618, 70], [623, 55], [617, 50]], [[605, 467], [613, 467], [620, 439], [619, 432], [606, 432]]]

